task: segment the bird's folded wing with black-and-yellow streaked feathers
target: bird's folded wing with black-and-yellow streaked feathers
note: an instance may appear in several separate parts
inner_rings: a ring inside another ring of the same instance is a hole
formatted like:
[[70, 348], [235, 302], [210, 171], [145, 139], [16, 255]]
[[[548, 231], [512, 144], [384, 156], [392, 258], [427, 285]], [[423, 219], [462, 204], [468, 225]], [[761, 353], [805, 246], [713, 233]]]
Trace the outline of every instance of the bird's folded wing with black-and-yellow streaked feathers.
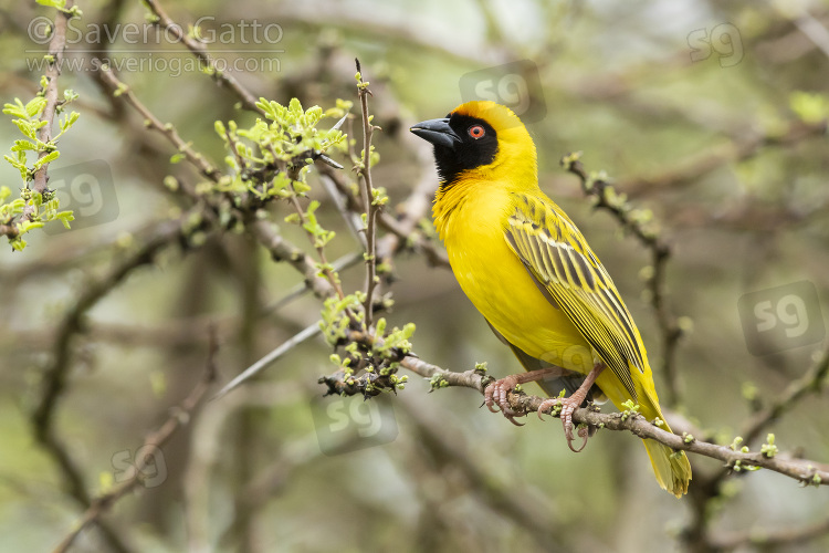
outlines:
[[522, 194], [514, 198], [505, 234], [511, 248], [636, 400], [631, 369], [644, 373], [644, 345], [607, 270], [555, 204]]

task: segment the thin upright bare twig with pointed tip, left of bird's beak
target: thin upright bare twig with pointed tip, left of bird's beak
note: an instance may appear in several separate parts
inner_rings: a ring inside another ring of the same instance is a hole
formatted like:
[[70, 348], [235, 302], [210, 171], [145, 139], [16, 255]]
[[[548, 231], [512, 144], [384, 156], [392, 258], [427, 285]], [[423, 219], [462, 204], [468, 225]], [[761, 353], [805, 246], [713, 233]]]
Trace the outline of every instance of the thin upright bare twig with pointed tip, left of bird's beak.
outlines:
[[371, 327], [374, 319], [374, 292], [377, 285], [377, 255], [376, 255], [376, 229], [377, 212], [379, 206], [375, 202], [374, 186], [371, 185], [371, 135], [375, 126], [371, 125], [368, 115], [368, 96], [371, 91], [368, 90], [368, 82], [363, 80], [360, 72], [360, 62], [355, 58], [357, 65], [357, 94], [360, 98], [360, 112], [363, 113], [363, 165], [359, 175], [363, 177], [363, 201], [366, 213], [366, 298], [363, 301], [363, 309], [366, 313], [366, 327]]

